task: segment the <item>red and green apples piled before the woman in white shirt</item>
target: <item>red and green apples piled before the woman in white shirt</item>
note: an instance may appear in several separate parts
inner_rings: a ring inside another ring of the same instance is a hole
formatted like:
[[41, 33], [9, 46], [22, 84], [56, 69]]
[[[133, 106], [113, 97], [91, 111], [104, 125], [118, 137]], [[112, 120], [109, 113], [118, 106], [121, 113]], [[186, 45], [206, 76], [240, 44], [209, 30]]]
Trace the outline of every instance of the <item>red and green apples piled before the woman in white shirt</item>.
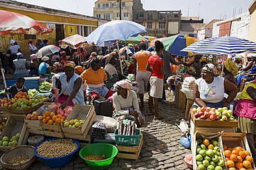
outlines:
[[232, 111], [227, 107], [223, 108], [210, 108], [210, 107], [198, 107], [192, 108], [194, 117], [197, 120], [222, 120], [222, 121], [234, 121], [235, 118], [232, 115]]

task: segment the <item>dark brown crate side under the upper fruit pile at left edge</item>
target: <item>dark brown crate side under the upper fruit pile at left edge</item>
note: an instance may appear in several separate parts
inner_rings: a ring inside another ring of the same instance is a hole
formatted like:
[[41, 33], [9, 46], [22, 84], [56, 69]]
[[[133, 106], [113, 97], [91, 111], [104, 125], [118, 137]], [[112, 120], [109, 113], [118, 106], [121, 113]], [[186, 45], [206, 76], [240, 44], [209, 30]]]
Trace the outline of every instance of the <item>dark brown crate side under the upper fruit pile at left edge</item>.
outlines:
[[35, 106], [32, 106], [26, 110], [21, 110], [17, 108], [8, 108], [8, 107], [0, 107], [0, 111], [3, 111], [3, 115], [26, 115], [28, 113], [32, 113], [33, 111], [36, 111], [39, 107], [43, 106], [44, 103], [35, 104]]

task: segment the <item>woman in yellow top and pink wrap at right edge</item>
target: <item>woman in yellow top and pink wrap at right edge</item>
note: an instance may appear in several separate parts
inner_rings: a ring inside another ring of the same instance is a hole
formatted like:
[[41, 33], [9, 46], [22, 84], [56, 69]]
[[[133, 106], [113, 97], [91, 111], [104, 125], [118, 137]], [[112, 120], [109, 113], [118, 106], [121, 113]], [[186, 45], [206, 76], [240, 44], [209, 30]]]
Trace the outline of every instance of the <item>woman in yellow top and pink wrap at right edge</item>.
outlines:
[[250, 151], [256, 159], [256, 79], [247, 84], [236, 102], [234, 114], [238, 116], [238, 129], [246, 132]]

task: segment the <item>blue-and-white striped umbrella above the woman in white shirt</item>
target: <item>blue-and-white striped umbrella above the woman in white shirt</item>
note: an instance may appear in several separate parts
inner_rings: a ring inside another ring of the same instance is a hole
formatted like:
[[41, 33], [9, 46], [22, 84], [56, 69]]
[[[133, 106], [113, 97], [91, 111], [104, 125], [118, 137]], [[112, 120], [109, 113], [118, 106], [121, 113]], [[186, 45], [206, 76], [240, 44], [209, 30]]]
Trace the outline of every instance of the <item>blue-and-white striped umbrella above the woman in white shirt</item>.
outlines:
[[194, 54], [232, 55], [246, 51], [256, 51], [256, 43], [237, 37], [213, 37], [197, 41], [181, 51]]

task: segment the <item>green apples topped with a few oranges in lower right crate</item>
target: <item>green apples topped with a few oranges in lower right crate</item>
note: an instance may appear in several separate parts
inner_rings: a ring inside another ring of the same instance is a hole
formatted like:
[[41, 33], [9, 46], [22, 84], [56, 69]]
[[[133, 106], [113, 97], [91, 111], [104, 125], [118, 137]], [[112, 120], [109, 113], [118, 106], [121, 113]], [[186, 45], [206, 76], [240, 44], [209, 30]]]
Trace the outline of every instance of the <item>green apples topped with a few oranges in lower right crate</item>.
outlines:
[[196, 147], [197, 169], [221, 170], [225, 166], [217, 140], [198, 139]]

